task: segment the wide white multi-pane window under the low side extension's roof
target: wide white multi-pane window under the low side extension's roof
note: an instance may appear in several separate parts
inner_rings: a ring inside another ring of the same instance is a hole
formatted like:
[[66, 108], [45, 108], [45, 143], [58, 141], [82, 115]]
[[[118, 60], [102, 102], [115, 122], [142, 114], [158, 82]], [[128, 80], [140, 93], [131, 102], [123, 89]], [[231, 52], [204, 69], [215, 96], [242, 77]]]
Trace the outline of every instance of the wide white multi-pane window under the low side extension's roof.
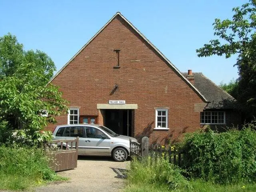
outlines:
[[201, 124], [225, 124], [224, 111], [203, 111], [200, 113]]

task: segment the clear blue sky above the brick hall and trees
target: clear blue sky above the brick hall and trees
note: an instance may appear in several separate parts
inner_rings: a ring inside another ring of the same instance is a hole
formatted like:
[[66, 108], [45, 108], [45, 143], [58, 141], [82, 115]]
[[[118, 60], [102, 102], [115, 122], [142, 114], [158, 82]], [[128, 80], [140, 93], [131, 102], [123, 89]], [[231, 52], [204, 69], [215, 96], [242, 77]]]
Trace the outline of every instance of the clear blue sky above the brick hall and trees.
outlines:
[[216, 84], [238, 78], [236, 56], [198, 58], [215, 18], [232, 18], [248, 0], [0, 0], [0, 36], [17, 36], [25, 50], [42, 50], [62, 68], [116, 13], [121, 12], [180, 71], [203, 72]]

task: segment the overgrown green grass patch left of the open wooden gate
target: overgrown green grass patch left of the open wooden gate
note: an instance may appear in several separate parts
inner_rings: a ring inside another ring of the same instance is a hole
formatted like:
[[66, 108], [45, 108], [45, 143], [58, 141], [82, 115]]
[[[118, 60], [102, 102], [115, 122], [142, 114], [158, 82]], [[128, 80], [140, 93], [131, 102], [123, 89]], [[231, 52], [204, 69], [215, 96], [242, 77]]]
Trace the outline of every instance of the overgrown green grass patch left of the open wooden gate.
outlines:
[[25, 190], [56, 180], [41, 149], [0, 146], [0, 190]]

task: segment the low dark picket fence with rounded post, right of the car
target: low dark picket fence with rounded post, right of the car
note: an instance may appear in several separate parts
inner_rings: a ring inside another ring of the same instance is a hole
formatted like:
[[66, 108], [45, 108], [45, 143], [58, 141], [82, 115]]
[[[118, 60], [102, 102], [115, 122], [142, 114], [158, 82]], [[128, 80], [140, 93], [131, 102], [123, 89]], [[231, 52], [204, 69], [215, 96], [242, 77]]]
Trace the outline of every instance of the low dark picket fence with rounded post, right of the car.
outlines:
[[149, 139], [147, 137], [142, 138], [142, 142], [132, 142], [130, 140], [130, 155], [137, 157], [150, 156], [151, 164], [157, 163], [158, 160], [165, 159], [169, 163], [181, 166], [182, 153], [177, 152], [174, 148], [162, 145], [149, 146]]

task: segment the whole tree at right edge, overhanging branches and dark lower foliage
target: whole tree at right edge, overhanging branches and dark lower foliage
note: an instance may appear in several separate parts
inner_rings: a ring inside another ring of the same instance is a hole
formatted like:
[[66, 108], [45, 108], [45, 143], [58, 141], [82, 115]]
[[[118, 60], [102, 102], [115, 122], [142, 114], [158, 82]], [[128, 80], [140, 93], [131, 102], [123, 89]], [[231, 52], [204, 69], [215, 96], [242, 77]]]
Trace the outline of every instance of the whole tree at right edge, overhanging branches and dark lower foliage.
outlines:
[[250, 0], [233, 11], [232, 20], [215, 19], [214, 35], [219, 39], [210, 40], [196, 52], [199, 57], [238, 55], [234, 65], [239, 72], [237, 99], [243, 106], [246, 119], [250, 120], [256, 116], [256, 1]]

